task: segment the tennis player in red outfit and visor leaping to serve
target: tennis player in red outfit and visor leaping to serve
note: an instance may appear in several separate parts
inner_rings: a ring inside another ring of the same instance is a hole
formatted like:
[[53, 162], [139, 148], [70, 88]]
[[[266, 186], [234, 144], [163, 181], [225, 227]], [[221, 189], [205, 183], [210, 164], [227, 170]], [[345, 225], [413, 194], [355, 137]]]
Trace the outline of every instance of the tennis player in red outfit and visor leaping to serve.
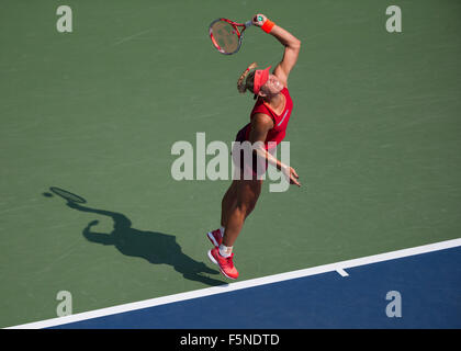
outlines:
[[[238, 271], [233, 261], [234, 242], [241, 231], [245, 219], [258, 201], [262, 185], [261, 178], [267, 170], [267, 165], [277, 167], [286, 179], [290, 179], [291, 184], [301, 186], [295, 170], [273, 157], [269, 148], [269, 146], [277, 146], [285, 136], [293, 110], [293, 101], [288, 90], [288, 78], [296, 64], [301, 42], [263, 14], [255, 15], [252, 23], [274, 36], [284, 46], [284, 53], [282, 61], [272, 72], [269, 72], [271, 67], [255, 70], [257, 65], [251, 64], [237, 82], [239, 92], [249, 90], [257, 101], [250, 113], [250, 122], [237, 133], [236, 141], [247, 140], [259, 147], [252, 149], [249, 162], [245, 160], [241, 148], [233, 149], [233, 161], [237, 162], [235, 168], [240, 172], [240, 177], [234, 177], [223, 197], [221, 228], [207, 233], [209, 239], [214, 245], [214, 248], [209, 251], [209, 258], [229, 279], [238, 278]], [[237, 157], [238, 154], [240, 157]]]

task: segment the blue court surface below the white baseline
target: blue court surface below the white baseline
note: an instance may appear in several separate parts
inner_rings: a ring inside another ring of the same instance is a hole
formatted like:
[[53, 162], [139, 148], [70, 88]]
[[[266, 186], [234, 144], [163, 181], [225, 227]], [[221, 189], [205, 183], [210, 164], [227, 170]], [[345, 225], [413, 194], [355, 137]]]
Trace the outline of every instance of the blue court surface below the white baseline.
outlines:
[[458, 329], [460, 263], [458, 246], [53, 328]]

